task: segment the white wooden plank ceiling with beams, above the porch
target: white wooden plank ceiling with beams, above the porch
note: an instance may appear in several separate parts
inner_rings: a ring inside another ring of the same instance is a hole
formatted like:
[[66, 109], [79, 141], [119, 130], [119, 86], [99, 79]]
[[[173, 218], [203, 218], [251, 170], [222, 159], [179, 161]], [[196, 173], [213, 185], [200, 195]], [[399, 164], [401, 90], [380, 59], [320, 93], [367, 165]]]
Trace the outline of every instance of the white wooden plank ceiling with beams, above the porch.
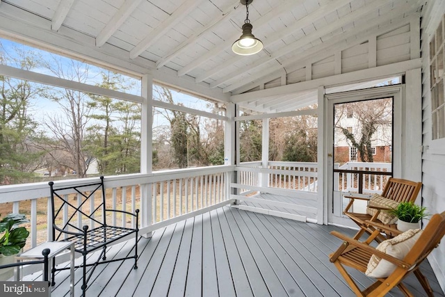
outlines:
[[[65, 44], [68, 53], [97, 51], [89, 54], [93, 60], [120, 69], [139, 65], [127, 68], [154, 73], [159, 80], [185, 79], [227, 97], [268, 81], [282, 85], [283, 77], [286, 84], [286, 74], [302, 68], [311, 56], [334, 55], [330, 49], [341, 42], [418, 15], [425, 2], [254, 0], [249, 6], [252, 33], [264, 42], [254, 56], [231, 50], [245, 20], [239, 0], [1, 0], [0, 33], [30, 40], [26, 31], [32, 27], [32, 42], [59, 48]], [[300, 107], [277, 109], [270, 101], [254, 106], [264, 112]]]

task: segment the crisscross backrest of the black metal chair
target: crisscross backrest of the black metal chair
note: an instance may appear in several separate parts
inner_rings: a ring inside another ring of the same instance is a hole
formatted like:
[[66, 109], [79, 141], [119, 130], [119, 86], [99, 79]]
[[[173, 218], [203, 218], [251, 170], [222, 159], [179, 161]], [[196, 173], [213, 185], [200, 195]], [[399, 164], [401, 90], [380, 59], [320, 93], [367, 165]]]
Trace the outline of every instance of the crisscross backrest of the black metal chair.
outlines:
[[89, 230], [106, 225], [104, 177], [75, 186], [55, 186], [54, 182], [49, 186], [53, 240], [81, 234], [84, 225]]

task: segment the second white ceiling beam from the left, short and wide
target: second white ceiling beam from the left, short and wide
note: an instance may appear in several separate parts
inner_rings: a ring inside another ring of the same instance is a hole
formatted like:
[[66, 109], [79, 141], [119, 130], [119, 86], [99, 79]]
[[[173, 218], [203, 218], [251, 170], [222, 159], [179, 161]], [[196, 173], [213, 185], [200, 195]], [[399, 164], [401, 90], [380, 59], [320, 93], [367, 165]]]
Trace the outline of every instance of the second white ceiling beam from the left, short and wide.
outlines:
[[96, 37], [96, 47], [102, 47], [105, 42], [111, 38], [116, 30], [125, 22], [125, 20], [139, 6], [142, 0], [126, 0], [119, 10], [111, 17], [110, 22], [106, 24], [104, 29]]

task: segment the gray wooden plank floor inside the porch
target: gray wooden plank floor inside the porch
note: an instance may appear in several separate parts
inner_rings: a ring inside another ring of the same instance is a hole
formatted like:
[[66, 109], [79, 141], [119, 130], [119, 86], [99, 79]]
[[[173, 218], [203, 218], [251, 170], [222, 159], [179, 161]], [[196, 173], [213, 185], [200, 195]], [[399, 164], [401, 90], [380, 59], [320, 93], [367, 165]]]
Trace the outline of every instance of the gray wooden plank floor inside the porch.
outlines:
[[[99, 265], [87, 296], [354, 296], [328, 260], [341, 244], [332, 230], [354, 233], [223, 207], [141, 238], [136, 270], [133, 260]], [[132, 244], [113, 246], [108, 259], [131, 252]], [[444, 296], [429, 264], [422, 265], [435, 296]], [[67, 273], [56, 275], [53, 296], [68, 296]], [[76, 270], [76, 296], [80, 275]], [[371, 283], [362, 273], [354, 278]], [[404, 282], [414, 296], [426, 296], [416, 278]]]

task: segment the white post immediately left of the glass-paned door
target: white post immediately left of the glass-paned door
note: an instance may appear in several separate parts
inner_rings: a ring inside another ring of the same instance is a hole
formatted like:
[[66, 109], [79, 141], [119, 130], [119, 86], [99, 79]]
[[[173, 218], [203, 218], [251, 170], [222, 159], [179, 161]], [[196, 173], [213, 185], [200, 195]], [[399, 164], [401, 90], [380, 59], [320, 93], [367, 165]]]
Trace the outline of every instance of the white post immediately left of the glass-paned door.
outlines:
[[317, 151], [317, 224], [327, 224], [327, 156], [325, 147], [325, 88], [318, 87], [318, 151]]

